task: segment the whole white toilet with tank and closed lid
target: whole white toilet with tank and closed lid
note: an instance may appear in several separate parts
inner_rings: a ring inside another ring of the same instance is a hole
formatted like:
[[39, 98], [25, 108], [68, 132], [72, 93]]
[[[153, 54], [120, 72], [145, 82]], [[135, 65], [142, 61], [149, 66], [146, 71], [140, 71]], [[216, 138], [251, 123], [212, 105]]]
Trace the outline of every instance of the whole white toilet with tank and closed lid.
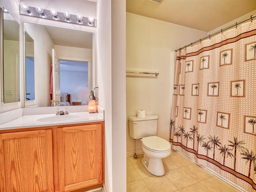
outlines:
[[144, 157], [142, 164], [153, 175], [162, 176], [165, 174], [162, 158], [171, 154], [171, 144], [157, 134], [157, 115], [146, 115], [146, 117], [130, 116], [129, 131], [130, 137], [142, 141]]

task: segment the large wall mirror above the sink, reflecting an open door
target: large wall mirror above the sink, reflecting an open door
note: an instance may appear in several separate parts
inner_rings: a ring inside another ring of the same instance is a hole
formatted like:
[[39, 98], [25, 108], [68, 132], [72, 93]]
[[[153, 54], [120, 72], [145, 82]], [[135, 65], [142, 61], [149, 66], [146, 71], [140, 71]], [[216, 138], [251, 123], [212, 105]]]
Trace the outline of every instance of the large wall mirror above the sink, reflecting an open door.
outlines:
[[34, 76], [35, 88], [34, 98], [25, 99], [25, 107], [87, 105], [92, 90], [93, 34], [32, 23], [24, 23], [24, 31], [34, 40], [34, 74], [25, 69], [25, 76]]

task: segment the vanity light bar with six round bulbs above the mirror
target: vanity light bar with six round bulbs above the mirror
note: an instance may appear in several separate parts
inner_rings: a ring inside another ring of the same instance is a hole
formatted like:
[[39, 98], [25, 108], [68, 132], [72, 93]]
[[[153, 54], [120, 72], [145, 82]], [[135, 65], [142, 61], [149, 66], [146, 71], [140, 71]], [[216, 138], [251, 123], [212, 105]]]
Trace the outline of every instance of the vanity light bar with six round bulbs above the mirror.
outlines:
[[68, 11], [57, 12], [55, 8], [50, 10], [43, 9], [40, 6], [30, 7], [25, 2], [20, 3], [20, 14], [50, 20], [56, 20], [61, 22], [69, 22], [72, 24], [79, 24], [85, 26], [97, 26], [97, 20], [93, 16], [83, 17], [82, 14], [78, 13], [76, 15], [70, 14]]

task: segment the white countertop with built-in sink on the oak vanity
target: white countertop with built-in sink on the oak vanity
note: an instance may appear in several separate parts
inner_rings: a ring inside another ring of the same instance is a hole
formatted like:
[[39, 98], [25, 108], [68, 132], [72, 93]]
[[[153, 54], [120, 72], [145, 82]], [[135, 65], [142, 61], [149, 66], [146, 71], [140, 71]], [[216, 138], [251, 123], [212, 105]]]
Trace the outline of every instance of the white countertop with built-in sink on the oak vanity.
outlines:
[[[60, 120], [54, 120], [50, 122], [42, 122], [42, 121], [48, 120], [49, 117], [55, 118], [56, 117], [55, 114], [21, 116], [14, 120], [6, 122], [4, 124], [0, 124], [0, 130], [104, 121], [104, 118], [100, 115], [100, 113], [78, 112], [78, 113], [70, 113], [67, 115], [58, 115], [58, 116], [60, 116]], [[72, 116], [73, 119], [70, 119], [71, 117], [69, 118], [68, 116]], [[43, 118], [46, 118], [46, 119], [43, 119]], [[67, 118], [68, 120], [65, 120], [65, 118]]]

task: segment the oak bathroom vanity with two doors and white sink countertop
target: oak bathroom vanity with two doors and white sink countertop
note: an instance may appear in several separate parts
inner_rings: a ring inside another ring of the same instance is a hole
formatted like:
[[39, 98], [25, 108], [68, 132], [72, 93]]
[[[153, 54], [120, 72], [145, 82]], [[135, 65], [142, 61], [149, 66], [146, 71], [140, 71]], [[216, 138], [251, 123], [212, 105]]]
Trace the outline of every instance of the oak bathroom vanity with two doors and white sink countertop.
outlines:
[[82, 192], [102, 186], [104, 118], [88, 112], [60, 118], [65, 116], [70, 120], [28, 115], [0, 125], [1, 192]]

